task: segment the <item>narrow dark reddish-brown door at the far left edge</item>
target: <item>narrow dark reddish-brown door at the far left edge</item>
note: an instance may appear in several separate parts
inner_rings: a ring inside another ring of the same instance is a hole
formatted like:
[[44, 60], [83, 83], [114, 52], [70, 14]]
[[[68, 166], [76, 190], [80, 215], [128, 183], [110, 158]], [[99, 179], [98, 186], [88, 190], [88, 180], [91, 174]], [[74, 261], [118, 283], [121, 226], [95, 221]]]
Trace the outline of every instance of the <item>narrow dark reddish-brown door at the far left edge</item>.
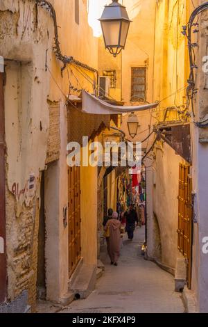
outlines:
[[6, 301], [5, 125], [3, 73], [0, 72], [0, 303]]

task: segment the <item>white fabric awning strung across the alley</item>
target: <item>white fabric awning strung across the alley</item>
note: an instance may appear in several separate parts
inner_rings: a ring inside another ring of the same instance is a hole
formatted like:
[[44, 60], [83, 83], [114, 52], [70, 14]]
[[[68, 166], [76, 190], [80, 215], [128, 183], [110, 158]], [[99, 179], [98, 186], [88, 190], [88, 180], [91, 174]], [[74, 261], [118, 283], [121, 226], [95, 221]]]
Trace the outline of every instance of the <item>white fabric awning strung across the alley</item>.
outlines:
[[114, 106], [83, 90], [83, 112], [85, 113], [93, 113], [95, 115], [117, 115], [121, 113], [149, 110], [157, 106], [158, 103], [144, 104], [143, 106]]

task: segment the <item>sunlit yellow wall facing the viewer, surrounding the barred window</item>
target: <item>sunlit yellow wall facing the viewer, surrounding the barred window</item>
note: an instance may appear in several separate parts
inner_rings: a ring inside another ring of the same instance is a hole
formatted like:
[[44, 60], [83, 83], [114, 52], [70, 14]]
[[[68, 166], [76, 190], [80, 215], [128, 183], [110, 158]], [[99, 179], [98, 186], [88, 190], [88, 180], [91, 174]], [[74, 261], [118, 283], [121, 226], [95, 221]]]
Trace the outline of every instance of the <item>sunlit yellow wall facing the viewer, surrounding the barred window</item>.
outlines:
[[[152, 0], [125, 0], [128, 15], [132, 19], [128, 33], [125, 50], [114, 58], [107, 50], [103, 42], [103, 36], [99, 39], [99, 73], [103, 70], [116, 70], [116, 88], [110, 88], [110, 96], [125, 105], [138, 105], [131, 102], [131, 68], [147, 67], [146, 101], [153, 102], [157, 98], [153, 96], [153, 74], [154, 74], [154, 29], [155, 29], [155, 1]], [[134, 141], [142, 141], [149, 134], [149, 126], [155, 121], [154, 115], [149, 112], [137, 113], [139, 118], [139, 135]], [[125, 131], [127, 138], [131, 141], [127, 127], [128, 115], [123, 115], [121, 129]], [[151, 140], [150, 140], [151, 143]], [[146, 148], [147, 143], [143, 147]]]

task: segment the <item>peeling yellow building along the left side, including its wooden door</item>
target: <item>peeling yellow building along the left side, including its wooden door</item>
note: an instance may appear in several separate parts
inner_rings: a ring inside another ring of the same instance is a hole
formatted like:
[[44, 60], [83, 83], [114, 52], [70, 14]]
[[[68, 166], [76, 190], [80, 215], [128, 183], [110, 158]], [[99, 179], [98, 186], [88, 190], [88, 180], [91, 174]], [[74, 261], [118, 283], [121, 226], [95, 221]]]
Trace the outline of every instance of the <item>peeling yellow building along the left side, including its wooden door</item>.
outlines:
[[95, 90], [98, 40], [87, 1], [50, 3], [0, 4], [0, 312], [34, 312], [37, 297], [67, 303], [79, 273], [88, 276], [83, 296], [95, 282], [98, 172], [67, 166], [67, 143], [73, 99]]

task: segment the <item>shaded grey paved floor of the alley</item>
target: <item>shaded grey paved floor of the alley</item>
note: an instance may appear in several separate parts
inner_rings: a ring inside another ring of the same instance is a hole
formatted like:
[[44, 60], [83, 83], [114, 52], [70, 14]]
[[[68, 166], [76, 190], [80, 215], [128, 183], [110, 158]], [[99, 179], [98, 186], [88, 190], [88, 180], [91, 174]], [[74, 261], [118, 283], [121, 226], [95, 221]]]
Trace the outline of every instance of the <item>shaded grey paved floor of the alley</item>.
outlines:
[[60, 313], [183, 313], [181, 294], [174, 292], [174, 279], [153, 262], [144, 260], [141, 245], [144, 228], [135, 239], [123, 240], [119, 266], [111, 266], [105, 247], [101, 260], [105, 273], [86, 299], [74, 301]]

